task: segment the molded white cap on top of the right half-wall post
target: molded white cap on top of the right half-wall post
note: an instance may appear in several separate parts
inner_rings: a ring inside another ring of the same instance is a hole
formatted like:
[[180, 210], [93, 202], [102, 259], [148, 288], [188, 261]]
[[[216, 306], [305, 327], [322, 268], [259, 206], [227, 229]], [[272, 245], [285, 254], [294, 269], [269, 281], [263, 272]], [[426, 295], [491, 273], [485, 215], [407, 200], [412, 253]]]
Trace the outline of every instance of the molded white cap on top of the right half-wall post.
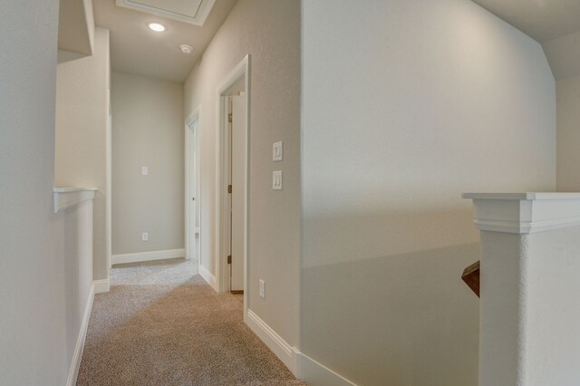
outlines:
[[580, 193], [465, 193], [480, 230], [528, 234], [580, 226]]

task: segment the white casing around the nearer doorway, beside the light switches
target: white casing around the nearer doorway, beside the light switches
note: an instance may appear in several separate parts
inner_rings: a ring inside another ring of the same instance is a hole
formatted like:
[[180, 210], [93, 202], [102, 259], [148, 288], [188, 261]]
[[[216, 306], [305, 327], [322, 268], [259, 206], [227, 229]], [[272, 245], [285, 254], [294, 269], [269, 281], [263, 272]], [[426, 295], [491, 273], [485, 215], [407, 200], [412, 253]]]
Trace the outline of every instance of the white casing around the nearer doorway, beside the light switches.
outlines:
[[226, 103], [227, 103], [227, 93], [232, 92], [234, 87], [239, 84], [239, 82], [244, 79], [244, 87], [247, 94], [246, 102], [246, 132], [242, 136], [246, 141], [243, 147], [246, 150], [244, 155], [244, 165], [242, 167], [242, 173], [244, 176], [244, 187], [241, 188], [242, 194], [244, 195], [244, 321], [246, 321], [247, 307], [248, 307], [248, 271], [249, 271], [249, 261], [247, 256], [249, 256], [249, 225], [248, 225], [248, 191], [249, 191], [249, 143], [250, 143], [250, 55], [247, 54], [240, 63], [237, 64], [234, 69], [227, 74], [225, 80], [218, 86], [217, 99], [218, 99], [218, 130], [216, 131], [216, 275], [218, 281], [218, 292], [228, 292], [229, 291], [229, 269], [227, 265], [227, 227], [229, 227], [229, 216], [228, 216], [228, 197], [227, 197], [227, 181], [228, 172], [227, 165], [230, 159], [230, 154], [228, 154], [227, 149], [227, 113], [226, 113]]

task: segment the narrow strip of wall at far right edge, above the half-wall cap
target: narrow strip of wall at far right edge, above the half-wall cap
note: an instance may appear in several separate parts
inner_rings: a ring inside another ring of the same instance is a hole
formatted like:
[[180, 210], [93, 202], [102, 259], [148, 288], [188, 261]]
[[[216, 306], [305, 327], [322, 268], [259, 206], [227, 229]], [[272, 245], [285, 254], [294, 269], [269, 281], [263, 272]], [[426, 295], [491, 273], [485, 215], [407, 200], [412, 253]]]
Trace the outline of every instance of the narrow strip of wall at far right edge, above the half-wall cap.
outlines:
[[580, 76], [556, 82], [557, 189], [580, 191]]

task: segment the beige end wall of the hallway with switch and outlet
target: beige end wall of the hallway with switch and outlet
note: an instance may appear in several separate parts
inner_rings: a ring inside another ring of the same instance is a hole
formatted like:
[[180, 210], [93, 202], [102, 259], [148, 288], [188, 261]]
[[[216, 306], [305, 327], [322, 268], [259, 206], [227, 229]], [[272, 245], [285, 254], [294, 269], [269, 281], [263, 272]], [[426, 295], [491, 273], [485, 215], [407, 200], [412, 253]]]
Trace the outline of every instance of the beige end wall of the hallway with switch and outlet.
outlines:
[[183, 248], [183, 85], [113, 72], [111, 102], [112, 253]]

